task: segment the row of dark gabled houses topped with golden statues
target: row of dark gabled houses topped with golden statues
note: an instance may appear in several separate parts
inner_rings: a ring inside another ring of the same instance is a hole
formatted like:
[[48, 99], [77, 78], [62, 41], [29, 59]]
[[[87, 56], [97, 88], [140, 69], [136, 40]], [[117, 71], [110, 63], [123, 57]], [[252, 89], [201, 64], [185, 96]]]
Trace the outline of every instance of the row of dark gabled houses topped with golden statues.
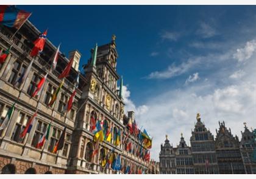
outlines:
[[[183, 137], [177, 148], [169, 144], [167, 137], [165, 145], [161, 145], [160, 174], [185, 174], [185, 171], [187, 174], [189, 171], [194, 174], [255, 174], [253, 154], [256, 154], [256, 140], [253, 131], [245, 125], [241, 133], [239, 141], [237, 136], [233, 137], [230, 129], [227, 130], [223, 121], [219, 123], [219, 130], [216, 129], [214, 140], [197, 114], [197, 123], [190, 138], [191, 147], [185, 144]], [[180, 155], [180, 150], [183, 155]], [[190, 166], [181, 163], [179, 158], [185, 158]], [[175, 163], [172, 164], [172, 161]]]

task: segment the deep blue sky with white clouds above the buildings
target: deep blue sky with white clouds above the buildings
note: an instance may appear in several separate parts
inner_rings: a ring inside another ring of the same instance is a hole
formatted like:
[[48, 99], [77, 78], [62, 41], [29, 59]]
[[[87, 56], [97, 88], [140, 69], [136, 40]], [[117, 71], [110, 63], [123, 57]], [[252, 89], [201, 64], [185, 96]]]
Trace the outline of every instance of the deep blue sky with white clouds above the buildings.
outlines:
[[90, 49], [116, 35], [117, 70], [124, 77], [126, 110], [154, 137], [158, 160], [165, 134], [187, 143], [200, 112], [215, 135], [225, 120], [241, 138], [243, 122], [256, 127], [255, 6], [18, 5], [61, 50]]

